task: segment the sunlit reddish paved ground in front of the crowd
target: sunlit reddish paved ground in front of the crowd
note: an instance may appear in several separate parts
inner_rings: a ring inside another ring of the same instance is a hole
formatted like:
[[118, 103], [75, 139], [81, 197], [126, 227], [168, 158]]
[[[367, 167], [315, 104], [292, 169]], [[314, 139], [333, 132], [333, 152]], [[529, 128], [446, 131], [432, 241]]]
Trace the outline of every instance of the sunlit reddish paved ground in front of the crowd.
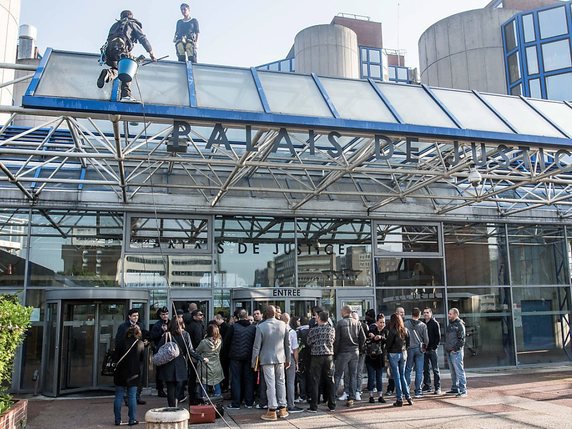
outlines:
[[[450, 379], [446, 372], [443, 378], [443, 386], [448, 388]], [[391, 401], [369, 404], [367, 400], [346, 408], [344, 402], [338, 401], [334, 413], [321, 405], [317, 414], [291, 414], [277, 422], [261, 420], [261, 410], [227, 410], [224, 421], [218, 419], [214, 424], [190, 428], [572, 429], [572, 365], [471, 371], [468, 373], [468, 387], [467, 398], [430, 394], [415, 400], [413, 406], [403, 408], [392, 407]], [[363, 394], [365, 399], [367, 396]], [[27, 399], [28, 429], [115, 427], [112, 396]], [[164, 398], [158, 398], [152, 391], [144, 394], [143, 399], [147, 404], [140, 405], [137, 410], [137, 418], [142, 423], [135, 427], [145, 427], [143, 422], [147, 410], [167, 405]], [[126, 420], [126, 407], [123, 407], [123, 412]]]

